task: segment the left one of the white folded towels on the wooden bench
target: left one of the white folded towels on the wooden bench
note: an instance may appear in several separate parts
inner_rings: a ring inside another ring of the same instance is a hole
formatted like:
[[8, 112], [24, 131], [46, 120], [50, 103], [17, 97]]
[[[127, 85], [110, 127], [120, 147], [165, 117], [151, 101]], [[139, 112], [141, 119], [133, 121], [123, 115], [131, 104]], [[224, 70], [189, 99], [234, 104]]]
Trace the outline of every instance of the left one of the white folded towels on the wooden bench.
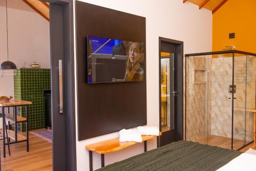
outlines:
[[137, 129], [129, 129], [129, 130], [121, 130], [119, 131], [119, 141], [126, 142], [126, 141], [135, 141], [135, 142], [142, 142], [142, 137], [140, 132]]

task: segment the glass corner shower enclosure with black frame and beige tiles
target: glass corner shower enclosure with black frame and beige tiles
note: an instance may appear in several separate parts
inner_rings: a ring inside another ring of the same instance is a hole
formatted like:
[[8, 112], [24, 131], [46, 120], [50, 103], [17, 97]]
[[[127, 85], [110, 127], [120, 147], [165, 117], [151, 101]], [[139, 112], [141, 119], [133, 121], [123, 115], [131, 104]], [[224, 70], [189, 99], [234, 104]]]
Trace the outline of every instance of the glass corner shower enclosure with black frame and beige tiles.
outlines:
[[234, 150], [252, 142], [256, 54], [186, 54], [185, 66], [185, 139]]

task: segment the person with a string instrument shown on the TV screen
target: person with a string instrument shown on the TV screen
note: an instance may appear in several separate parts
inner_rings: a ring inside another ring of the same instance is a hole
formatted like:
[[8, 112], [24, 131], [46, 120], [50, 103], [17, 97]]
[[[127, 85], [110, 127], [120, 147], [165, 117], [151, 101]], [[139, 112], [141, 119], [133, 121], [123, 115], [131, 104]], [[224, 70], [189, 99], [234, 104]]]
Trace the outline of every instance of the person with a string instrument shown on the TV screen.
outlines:
[[124, 81], [143, 81], [144, 47], [138, 42], [130, 42]]

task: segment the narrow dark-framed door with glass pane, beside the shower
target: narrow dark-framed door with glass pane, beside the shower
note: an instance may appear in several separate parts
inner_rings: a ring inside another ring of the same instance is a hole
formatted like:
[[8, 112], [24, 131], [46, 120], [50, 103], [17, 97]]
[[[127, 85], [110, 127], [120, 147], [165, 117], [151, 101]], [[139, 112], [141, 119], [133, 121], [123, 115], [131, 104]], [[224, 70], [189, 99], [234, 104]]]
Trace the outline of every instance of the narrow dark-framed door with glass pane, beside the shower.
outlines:
[[160, 146], [183, 138], [183, 42], [159, 37]]

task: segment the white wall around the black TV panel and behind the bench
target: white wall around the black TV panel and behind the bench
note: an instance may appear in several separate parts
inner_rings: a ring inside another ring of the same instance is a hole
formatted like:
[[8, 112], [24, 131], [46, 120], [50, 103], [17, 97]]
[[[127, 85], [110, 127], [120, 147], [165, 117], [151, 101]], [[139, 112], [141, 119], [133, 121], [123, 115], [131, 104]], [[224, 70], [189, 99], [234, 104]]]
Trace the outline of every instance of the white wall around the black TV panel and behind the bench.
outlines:
[[[199, 10], [198, 6], [190, 3], [183, 4], [181, 0], [83, 0], [83, 2], [146, 17], [147, 124], [158, 126], [158, 37], [184, 41], [184, 54], [211, 51], [211, 11]], [[89, 153], [84, 149], [85, 145], [116, 137], [118, 133], [83, 141], [77, 140], [77, 170], [89, 170]], [[148, 149], [155, 147], [155, 139], [148, 142]], [[143, 149], [143, 144], [136, 144], [119, 152], [107, 154], [105, 164], [137, 155], [142, 153]], [[99, 168], [100, 155], [94, 154], [93, 159], [94, 169]]]

